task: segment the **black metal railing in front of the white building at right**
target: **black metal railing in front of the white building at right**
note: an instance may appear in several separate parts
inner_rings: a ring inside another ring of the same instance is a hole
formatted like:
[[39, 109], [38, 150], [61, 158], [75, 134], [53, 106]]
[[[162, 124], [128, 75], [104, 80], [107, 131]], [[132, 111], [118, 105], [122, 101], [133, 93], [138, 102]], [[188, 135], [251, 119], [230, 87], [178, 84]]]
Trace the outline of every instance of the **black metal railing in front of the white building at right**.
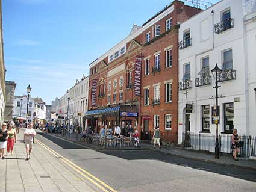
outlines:
[[[231, 134], [219, 134], [218, 137], [220, 153], [231, 153]], [[183, 133], [182, 140], [183, 147], [214, 153], [216, 135]], [[239, 156], [256, 156], [256, 136], [241, 135], [240, 141], [244, 142], [244, 146], [240, 147]]]

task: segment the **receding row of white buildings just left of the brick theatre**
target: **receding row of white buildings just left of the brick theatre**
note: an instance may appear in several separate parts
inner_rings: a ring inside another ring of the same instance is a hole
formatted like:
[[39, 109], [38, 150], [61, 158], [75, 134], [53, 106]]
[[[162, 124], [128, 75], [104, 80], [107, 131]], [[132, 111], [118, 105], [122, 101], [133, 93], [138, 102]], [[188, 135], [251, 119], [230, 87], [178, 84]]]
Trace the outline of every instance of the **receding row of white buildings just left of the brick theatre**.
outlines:
[[61, 124], [67, 123], [67, 105], [68, 98], [70, 98], [68, 107], [70, 125], [86, 126], [86, 122], [83, 122], [83, 115], [88, 109], [88, 86], [89, 78], [83, 76], [81, 81], [77, 80], [75, 85], [59, 99], [57, 113]]

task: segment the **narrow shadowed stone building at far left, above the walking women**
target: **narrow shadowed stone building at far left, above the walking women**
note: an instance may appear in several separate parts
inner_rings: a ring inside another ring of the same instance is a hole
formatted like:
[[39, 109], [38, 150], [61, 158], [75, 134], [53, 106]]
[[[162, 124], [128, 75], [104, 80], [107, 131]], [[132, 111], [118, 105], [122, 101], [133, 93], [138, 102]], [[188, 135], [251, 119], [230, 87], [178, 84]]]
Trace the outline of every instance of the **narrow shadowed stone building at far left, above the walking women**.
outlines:
[[5, 103], [5, 110], [4, 110], [4, 121], [10, 121], [12, 119], [15, 88], [16, 88], [16, 82], [5, 81], [6, 103]]

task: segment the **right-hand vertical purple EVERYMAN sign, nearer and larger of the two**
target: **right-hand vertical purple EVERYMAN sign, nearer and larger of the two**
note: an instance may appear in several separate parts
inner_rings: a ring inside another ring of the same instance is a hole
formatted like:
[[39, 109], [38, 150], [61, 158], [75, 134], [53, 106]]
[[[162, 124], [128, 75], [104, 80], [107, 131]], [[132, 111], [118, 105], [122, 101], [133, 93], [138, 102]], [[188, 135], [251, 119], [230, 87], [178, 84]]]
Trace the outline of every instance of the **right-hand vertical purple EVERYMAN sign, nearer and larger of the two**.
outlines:
[[134, 90], [135, 96], [140, 96], [141, 78], [142, 78], [142, 57], [137, 56], [134, 70]]

